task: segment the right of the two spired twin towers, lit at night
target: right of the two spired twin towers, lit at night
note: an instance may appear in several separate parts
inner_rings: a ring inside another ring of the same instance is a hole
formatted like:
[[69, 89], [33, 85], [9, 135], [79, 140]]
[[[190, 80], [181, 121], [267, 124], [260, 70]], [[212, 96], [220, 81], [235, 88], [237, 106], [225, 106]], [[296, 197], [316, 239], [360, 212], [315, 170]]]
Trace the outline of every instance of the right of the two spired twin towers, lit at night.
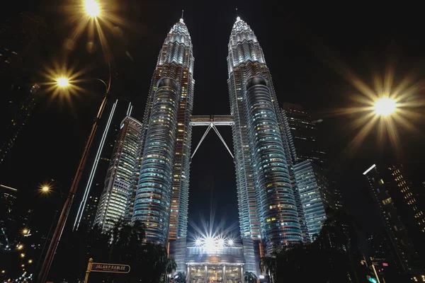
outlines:
[[254, 32], [239, 17], [228, 46], [241, 236], [262, 238], [270, 255], [302, 241], [285, 125], [263, 51]]

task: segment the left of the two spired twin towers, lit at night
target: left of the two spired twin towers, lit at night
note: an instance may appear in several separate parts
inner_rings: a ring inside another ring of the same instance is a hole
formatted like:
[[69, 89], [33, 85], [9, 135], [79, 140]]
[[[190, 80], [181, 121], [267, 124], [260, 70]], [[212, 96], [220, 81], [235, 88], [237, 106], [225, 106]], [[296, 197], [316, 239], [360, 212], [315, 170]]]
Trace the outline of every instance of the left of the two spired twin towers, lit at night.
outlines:
[[147, 241], [186, 237], [193, 62], [191, 36], [181, 18], [159, 52], [143, 119], [132, 221], [146, 225]]

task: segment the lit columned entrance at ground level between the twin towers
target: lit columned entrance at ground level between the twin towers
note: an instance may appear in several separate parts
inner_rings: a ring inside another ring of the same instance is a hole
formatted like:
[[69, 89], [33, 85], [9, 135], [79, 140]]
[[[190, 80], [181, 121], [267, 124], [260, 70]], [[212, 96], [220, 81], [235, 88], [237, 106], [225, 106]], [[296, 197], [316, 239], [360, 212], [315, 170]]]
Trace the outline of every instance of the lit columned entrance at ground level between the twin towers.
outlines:
[[242, 263], [190, 263], [187, 283], [244, 283]]

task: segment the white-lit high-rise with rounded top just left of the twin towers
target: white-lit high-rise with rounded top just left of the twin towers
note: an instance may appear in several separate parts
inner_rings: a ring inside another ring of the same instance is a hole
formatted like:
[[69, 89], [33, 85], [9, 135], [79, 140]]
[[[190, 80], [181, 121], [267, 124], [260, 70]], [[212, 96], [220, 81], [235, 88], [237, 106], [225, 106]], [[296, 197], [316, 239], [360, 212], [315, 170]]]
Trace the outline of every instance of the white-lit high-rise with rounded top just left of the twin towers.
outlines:
[[137, 162], [141, 130], [142, 123], [130, 116], [125, 117], [120, 125], [94, 221], [104, 231], [124, 219], [132, 189], [130, 180]]

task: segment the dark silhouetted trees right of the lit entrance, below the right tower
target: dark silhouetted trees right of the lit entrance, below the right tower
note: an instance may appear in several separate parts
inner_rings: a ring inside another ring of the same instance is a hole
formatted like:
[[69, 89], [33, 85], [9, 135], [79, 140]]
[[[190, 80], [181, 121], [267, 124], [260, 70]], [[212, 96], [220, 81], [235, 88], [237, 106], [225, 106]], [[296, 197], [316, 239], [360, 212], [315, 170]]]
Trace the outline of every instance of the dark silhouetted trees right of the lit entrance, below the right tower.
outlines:
[[344, 211], [329, 209], [312, 243], [291, 244], [272, 257], [261, 258], [260, 269], [276, 283], [288, 277], [302, 282], [358, 282], [359, 227]]

